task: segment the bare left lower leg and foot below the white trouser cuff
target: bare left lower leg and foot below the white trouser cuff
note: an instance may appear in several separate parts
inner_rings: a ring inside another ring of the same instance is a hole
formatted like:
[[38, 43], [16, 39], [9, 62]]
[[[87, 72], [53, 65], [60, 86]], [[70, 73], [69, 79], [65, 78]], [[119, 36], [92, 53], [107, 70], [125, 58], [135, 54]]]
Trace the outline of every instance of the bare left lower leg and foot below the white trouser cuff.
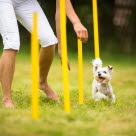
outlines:
[[14, 107], [11, 96], [11, 85], [15, 69], [16, 50], [4, 50], [0, 59], [0, 82], [3, 90], [2, 104], [5, 107]]

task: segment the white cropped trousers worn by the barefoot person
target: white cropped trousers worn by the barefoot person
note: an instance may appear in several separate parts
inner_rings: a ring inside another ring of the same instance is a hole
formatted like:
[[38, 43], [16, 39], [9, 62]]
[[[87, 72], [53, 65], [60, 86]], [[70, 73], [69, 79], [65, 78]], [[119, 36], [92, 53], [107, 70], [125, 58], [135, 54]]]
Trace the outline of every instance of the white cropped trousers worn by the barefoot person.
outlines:
[[0, 33], [4, 49], [19, 50], [20, 36], [17, 20], [31, 33], [33, 13], [38, 13], [38, 38], [42, 47], [58, 40], [37, 0], [0, 0]]

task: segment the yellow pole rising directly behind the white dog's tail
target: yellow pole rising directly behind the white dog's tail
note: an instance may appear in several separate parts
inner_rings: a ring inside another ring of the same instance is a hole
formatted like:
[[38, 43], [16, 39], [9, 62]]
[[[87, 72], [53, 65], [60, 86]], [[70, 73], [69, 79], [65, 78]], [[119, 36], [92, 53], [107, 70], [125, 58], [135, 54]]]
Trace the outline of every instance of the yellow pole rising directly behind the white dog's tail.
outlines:
[[100, 57], [100, 53], [99, 53], [97, 0], [92, 0], [92, 5], [93, 5], [93, 26], [94, 26], [95, 58], [99, 58]]

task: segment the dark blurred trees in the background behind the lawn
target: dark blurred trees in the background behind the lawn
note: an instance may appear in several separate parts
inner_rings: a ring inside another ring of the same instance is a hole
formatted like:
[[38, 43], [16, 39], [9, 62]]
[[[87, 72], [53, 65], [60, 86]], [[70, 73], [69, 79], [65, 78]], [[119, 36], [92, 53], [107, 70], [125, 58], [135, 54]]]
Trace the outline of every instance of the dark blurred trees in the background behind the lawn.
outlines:
[[[55, 0], [38, 0], [55, 32]], [[92, 0], [71, 0], [81, 22], [89, 32], [84, 51], [93, 52]], [[98, 0], [99, 37], [103, 52], [136, 53], [136, 0]], [[29, 49], [30, 34], [19, 24], [21, 48]], [[68, 49], [77, 51], [76, 34], [67, 21]]]

